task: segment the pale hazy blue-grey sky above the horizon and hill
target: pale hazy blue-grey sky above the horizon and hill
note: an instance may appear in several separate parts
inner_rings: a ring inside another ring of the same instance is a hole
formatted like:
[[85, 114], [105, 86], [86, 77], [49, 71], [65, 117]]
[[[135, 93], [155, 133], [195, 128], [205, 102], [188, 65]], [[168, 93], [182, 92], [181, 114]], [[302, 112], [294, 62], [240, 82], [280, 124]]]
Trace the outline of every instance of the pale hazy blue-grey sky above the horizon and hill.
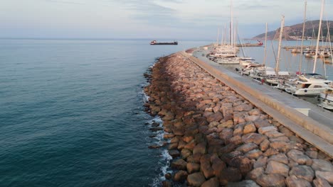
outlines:
[[[307, 20], [320, 0], [307, 1]], [[230, 20], [230, 0], [0, 0], [0, 38], [216, 38]], [[326, 0], [324, 20], [333, 20]], [[302, 0], [234, 0], [240, 38], [302, 23]]]

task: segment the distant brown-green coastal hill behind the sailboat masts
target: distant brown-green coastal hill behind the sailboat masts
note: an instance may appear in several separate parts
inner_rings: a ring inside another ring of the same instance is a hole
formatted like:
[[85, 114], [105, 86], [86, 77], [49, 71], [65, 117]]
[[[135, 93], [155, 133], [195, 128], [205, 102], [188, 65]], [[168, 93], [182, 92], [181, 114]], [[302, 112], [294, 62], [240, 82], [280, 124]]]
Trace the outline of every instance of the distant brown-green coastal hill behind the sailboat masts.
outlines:
[[[329, 33], [333, 33], [333, 25], [331, 24], [333, 21], [328, 21], [329, 24]], [[317, 38], [319, 28], [319, 20], [316, 21], [307, 21], [305, 22], [305, 39]], [[298, 23], [293, 26], [285, 26], [283, 28], [283, 40], [297, 40], [302, 39], [302, 30], [303, 23]], [[324, 38], [327, 36], [327, 21], [322, 21], [322, 35]], [[268, 32], [267, 38], [268, 40], [278, 40], [280, 35], [280, 28], [277, 30], [273, 30]], [[265, 40], [265, 33], [257, 35], [252, 38], [253, 40]], [[331, 37], [332, 40], [332, 37]]]

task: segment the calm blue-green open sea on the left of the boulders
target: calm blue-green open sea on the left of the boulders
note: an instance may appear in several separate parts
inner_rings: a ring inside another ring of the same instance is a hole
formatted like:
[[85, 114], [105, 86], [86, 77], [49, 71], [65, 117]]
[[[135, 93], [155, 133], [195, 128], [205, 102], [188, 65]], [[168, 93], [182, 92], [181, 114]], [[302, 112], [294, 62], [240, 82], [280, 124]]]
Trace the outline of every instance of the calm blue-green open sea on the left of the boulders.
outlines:
[[142, 74], [207, 43], [0, 40], [0, 186], [158, 186]]

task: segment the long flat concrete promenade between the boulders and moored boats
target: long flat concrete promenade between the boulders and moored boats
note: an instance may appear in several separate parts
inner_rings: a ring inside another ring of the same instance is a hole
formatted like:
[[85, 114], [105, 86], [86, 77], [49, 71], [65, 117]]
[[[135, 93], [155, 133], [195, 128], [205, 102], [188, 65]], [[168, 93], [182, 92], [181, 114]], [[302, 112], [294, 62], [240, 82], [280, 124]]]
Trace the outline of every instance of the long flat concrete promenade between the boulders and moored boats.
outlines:
[[[248, 99], [250, 103], [268, 113], [279, 123], [285, 125], [286, 128], [289, 128], [304, 140], [322, 150], [322, 152], [333, 157], [332, 112], [325, 111], [312, 103], [273, 89], [271, 86], [258, 84], [248, 77], [242, 77], [240, 74], [208, 60], [206, 58], [207, 52], [204, 50], [196, 52], [197, 57], [193, 57], [186, 52], [182, 52], [182, 54]], [[307, 115], [300, 113], [302, 110], [305, 110]]]

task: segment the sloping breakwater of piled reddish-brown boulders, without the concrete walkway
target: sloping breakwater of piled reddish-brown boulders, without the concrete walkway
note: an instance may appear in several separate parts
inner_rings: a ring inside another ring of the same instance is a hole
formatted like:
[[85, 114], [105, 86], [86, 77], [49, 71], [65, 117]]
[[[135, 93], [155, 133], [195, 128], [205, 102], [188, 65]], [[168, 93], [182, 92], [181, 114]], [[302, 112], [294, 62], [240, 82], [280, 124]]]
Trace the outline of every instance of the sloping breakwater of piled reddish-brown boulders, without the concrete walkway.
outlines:
[[330, 186], [332, 158], [176, 53], [146, 75], [145, 103], [173, 157], [162, 186]]

